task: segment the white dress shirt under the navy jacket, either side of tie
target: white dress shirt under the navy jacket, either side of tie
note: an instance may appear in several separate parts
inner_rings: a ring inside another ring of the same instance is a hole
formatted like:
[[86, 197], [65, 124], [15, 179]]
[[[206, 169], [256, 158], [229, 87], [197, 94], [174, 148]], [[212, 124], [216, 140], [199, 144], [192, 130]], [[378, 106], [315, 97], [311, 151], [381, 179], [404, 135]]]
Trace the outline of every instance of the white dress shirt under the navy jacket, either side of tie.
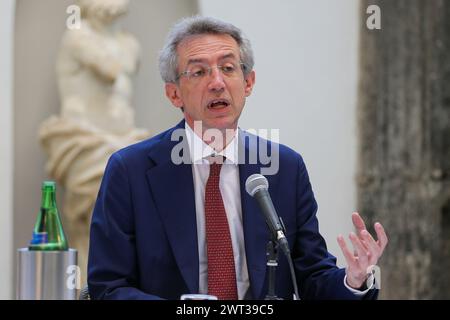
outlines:
[[211, 155], [226, 158], [220, 172], [219, 188], [230, 228], [233, 246], [234, 266], [238, 298], [245, 298], [250, 283], [248, 278], [247, 259], [245, 256], [244, 231], [242, 226], [241, 188], [238, 167], [238, 131], [233, 140], [221, 152], [216, 152], [185, 124], [186, 137], [192, 161], [194, 178], [195, 211], [197, 218], [197, 239], [199, 256], [199, 293], [208, 293], [208, 259], [206, 251], [205, 230], [205, 186], [209, 177], [209, 161]]

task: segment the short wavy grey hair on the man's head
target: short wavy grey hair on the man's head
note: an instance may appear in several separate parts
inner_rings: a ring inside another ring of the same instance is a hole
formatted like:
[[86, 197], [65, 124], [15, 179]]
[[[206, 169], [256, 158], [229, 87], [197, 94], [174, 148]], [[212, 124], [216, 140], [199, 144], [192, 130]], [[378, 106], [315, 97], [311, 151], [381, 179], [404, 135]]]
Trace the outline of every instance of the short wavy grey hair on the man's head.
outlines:
[[197, 15], [181, 19], [174, 25], [166, 38], [164, 47], [159, 53], [159, 73], [164, 82], [177, 81], [178, 44], [186, 38], [202, 34], [227, 34], [233, 37], [239, 45], [244, 75], [247, 76], [252, 71], [254, 65], [252, 47], [242, 31], [231, 23]]

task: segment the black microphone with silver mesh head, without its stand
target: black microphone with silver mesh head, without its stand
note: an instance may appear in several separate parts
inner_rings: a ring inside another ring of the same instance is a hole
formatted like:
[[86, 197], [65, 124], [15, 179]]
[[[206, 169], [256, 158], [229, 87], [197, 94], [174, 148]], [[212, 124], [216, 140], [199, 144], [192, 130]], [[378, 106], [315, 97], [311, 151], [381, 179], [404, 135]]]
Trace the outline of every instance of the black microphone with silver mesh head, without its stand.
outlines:
[[284, 234], [284, 225], [278, 216], [269, 194], [269, 181], [261, 174], [252, 174], [245, 182], [245, 190], [255, 198], [270, 229], [272, 238], [280, 245], [283, 253], [290, 258], [289, 244]]

